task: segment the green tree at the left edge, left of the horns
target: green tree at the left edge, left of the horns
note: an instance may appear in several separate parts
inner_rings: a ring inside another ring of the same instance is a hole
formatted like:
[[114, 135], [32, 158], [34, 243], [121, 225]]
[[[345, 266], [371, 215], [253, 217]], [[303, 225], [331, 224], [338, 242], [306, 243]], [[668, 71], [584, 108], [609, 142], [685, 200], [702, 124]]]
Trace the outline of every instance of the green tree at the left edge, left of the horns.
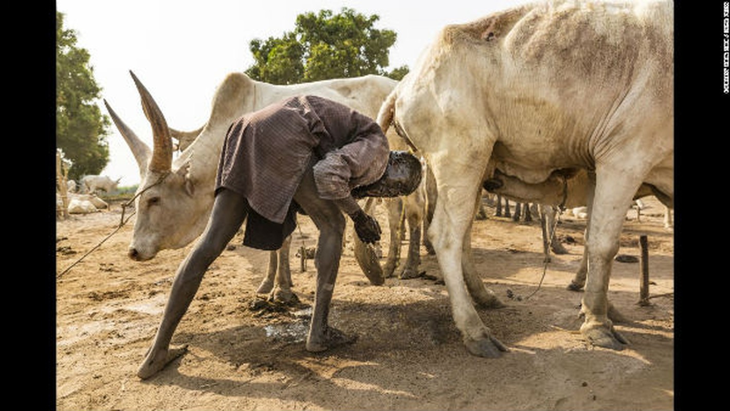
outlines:
[[73, 161], [69, 178], [99, 174], [109, 162], [109, 118], [94, 100], [101, 88], [93, 77], [89, 53], [76, 47], [76, 32], [64, 28], [64, 14], [55, 14], [55, 145]]

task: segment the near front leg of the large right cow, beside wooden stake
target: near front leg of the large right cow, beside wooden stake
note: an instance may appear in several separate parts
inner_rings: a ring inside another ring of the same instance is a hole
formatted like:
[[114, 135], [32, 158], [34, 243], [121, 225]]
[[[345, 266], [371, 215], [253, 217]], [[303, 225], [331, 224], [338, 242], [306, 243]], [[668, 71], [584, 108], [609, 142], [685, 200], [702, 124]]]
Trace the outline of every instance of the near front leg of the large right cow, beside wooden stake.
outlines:
[[591, 344], [614, 350], [622, 350], [628, 341], [613, 329], [609, 319], [608, 284], [626, 210], [641, 184], [637, 174], [614, 169], [597, 170], [588, 220], [588, 278], [581, 307], [585, 320], [580, 332]]

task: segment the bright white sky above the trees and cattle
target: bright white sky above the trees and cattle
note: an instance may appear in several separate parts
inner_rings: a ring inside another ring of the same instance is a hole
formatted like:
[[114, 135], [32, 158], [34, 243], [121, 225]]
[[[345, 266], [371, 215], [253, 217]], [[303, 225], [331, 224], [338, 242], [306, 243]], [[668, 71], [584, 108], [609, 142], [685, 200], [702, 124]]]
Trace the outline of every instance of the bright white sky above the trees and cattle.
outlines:
[[[392, 69], [411, 67], [440, 28], [466, 23], [524, 0], [56, 0], [64, 28], [77, 32], [78, 47], [91, 54], [101, 96], [137, 136], [152, 144], [131, 70], [152, 93], [167, 123], [179, 130], [202, 126], [210, 102], [229, 72], [253, 64], [252, 39], [280, 37], [294, 28], [296, 15], [350, 7], [378, 15], [376, 28], [396, 31]], [[108, 115], [103, 101], [101, 112]], [[121, 177], [121, 186], [139, 183], [139, 169], [112, 124], [110, 163], [101, 174]]]

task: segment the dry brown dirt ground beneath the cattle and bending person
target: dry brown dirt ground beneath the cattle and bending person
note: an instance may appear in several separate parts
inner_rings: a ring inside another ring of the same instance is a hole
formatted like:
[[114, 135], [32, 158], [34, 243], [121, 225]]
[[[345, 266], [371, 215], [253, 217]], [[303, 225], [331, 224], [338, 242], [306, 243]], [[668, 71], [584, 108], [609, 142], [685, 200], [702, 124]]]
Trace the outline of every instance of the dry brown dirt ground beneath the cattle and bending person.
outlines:
[[[472, 247], [483, 281], [506, 308], [477, 309], [510, 348], [501, 358], [471, 356], [453, 324], [435, 256], [421, 247], [413, 280], [370, 285], [351, 242], [339, 270], [330, 323], [357, 334], [325, 353], [304, 349], [315, 267], [291, 253], [300, 304], [256, 309], [268, 255], [237, 236], [215, 261], [172, 343], [188, 353], [149, 380], [135, 376], [157, 329], [178, 264], [191, 246], [156, 258], [127, 258], [134, 218], [56, 280], [58, 410], [671, 410], [674, 408], [674, 235], [653, 197], [641, 220], [629, 210], [619, 254], [639, 256], [649, 241], [650, 305], [640, 306], [639, 264], [615, 261], [609, 298], [626, 317], [622, 351], [585, 344], [577, 329], [582, 293], [567, 291], [583, 252], [585, 220], [564, 215], [542, 286], [539, 223], [476, 220]], [[377, 216], [388, 239], [383, 207]], [[111, 210], [56, 223], [58, 275], [115, 231]], [[128, 214], [127, 214], [128, 215]], [[299, 216], [293, 245], [315, 245]], [[387, 250], [387, 243], [383, 243]], [[406, 248], [401, 256], [404, 258]], [[384, 261], [384, 260], [383, 260]], [[534, 293], [537, 290], [536, 293]], [[532, 295], [530, 298], [528, 296]]]

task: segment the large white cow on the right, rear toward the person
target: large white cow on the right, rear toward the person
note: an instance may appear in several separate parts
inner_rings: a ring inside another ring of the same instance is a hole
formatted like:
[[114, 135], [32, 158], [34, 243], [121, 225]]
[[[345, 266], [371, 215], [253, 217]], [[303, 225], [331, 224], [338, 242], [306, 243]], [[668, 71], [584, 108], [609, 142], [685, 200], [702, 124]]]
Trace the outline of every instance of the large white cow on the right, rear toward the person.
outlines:
[[506, 350], [469, 298], [501, 304], [469, 245], [477, 194], [495, 169], [529, 184], [595, 173], [580, 331], [623, 347], [607, 288], [626, 210], [642, 183], [674, 195], [673, 12], [671, 1], [549, 1], [447, 26], [383, 105], [380, 125], [392, 120], [434, 171], [429, 238], [469, 352]]

